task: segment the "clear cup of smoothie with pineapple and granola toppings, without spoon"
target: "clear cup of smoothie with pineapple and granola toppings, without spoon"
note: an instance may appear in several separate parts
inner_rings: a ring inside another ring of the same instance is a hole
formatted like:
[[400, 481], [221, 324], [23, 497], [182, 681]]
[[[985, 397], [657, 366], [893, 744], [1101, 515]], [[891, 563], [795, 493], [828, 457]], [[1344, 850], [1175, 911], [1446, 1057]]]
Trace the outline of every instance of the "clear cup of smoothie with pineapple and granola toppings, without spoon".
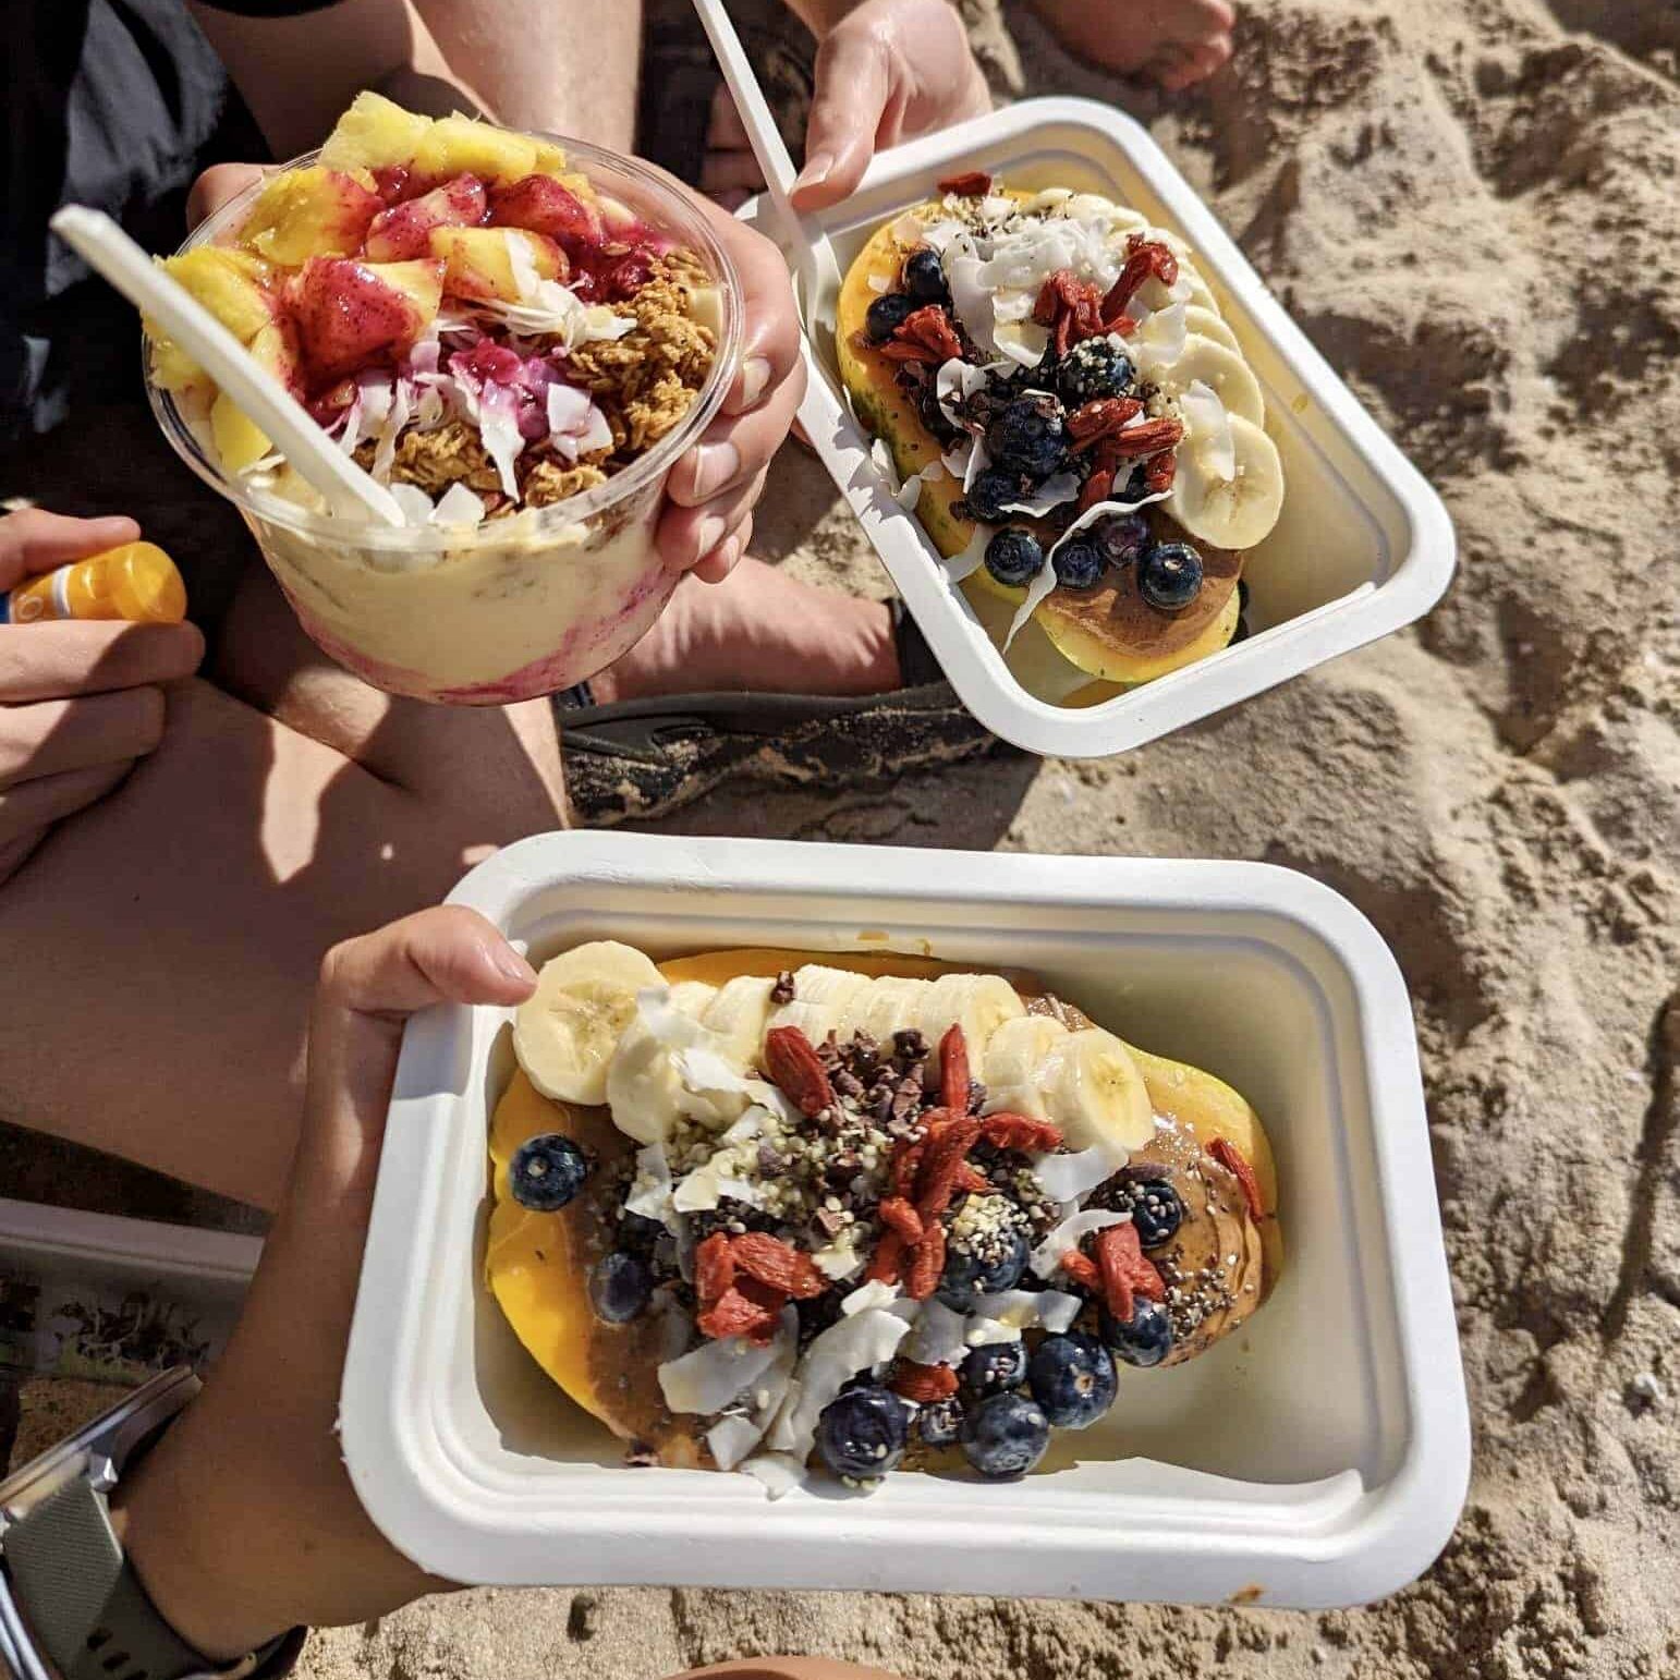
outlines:
[[329, 512], [146, 338], [165, 437], [344, 669], [506, 704], [585, 680], [659, 617], [665, 479], [729, 390], [743, 294], [657, 171], [363, 94], [166, 267], [403, 507], [400, 528]]

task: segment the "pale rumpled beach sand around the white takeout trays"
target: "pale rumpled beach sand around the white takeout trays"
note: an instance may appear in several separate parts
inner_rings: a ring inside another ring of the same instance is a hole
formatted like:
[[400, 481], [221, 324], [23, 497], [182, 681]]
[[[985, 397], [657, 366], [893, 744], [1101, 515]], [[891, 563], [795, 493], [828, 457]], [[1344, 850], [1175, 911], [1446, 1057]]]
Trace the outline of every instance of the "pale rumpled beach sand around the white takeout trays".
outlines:
[[[1388, 1603], [1312, 1616], [482, 1591], [318, 1636], [312, 1680], [773, 1650], [919, 1680], [1680, 1675], [1680, 17], [1257, 0], [1233, 67], [1176, 101], [1010, 27], [1025, 91], [1116, 99], [1206, 193], [1441, 489], [1457, 583], [1416, 632], [1114, 763], [998, 754], [664, 827], [1267, 858], [1359, 904], [1418, 1010], [1475, 1415], [1458, 1534]], [[796, 452], [759, 529], [885, 591]]]

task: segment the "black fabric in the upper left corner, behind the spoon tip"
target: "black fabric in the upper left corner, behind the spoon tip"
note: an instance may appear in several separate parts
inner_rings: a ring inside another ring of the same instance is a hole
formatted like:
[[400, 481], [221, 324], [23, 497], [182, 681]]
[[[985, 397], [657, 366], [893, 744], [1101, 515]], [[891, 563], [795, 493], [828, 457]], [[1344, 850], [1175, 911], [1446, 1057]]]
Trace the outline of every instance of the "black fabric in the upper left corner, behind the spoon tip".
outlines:
[[250, 554], [244, 528], [158, 433], [134, 311], [47, 220], [92, 205], [168, 252], [197, 173], [264, 161], [267, 148], [181, 0], [12, 0], [5, 22], [0, 497], [133, 514], [180, 563], [193, 618], [213, 627]]

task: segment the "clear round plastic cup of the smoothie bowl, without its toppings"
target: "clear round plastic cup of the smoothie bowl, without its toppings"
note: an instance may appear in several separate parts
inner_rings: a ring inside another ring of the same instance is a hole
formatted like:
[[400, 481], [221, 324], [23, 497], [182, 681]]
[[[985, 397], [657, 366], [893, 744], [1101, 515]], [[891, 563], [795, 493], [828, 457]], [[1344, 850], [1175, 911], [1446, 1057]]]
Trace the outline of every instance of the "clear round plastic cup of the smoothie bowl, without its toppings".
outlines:
[[[603, 195], [696, 252], [717, 286], [717, 353], [706, 383], [680, 425], [605, 484], [475, 529], [390, 529], [314, 512], [223, 472], [207, 427], [153, 383], [144, 356], [163, 435], [240, 511], [309, 638], [390, 694], [502, 706], [581, 682], [640, 640], [679, 576], [654, 546], [665, 477], [717, 413], [739, 361], [741, 281], [692, 202], [633, 158], [541, 138], [564, 146]], [[181, 250], [225, 244], [259, 190], [205, 220]]]

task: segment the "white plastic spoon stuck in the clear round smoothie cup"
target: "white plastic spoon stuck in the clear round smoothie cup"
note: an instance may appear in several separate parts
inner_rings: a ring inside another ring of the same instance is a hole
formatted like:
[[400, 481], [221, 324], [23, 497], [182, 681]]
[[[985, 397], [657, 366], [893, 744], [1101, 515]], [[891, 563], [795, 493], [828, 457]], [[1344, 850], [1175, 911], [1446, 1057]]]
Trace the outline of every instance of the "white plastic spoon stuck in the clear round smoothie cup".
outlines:
[[326, 497], [334, 514], [391, 526], [405, 522], [396, 497], [363, 472], [309, 418], [297, 398], [111, 217], [67, 205], [52, 218], [52, 232], [205, 370]]

